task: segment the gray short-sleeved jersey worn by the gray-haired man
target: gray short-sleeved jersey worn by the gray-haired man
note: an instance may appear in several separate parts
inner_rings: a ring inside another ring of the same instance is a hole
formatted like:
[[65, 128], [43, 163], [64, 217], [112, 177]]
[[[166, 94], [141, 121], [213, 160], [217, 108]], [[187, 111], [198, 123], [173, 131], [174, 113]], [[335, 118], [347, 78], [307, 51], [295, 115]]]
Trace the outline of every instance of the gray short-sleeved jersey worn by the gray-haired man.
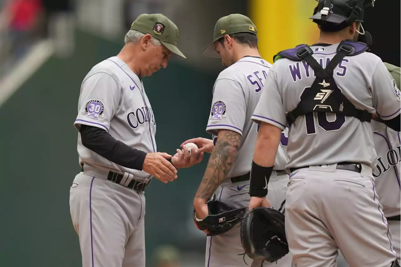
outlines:
[[[74, 126], [99, 127], [113, 138], [144, 152], [156, 151], [156, 123], [139, 77], [117, 57], [95, 65], [81, 85], [78, 116]], [[150, 178], [144, 171], [119, 166], [82, 145], [78, 133], [79, 164], [132, 174], [137, 180]]]

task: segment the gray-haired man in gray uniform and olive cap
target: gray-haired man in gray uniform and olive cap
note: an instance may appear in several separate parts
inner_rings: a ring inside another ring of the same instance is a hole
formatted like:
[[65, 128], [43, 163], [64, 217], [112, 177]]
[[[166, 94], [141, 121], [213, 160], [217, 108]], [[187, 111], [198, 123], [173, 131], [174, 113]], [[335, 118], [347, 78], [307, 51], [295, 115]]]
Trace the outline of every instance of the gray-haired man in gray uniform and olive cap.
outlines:
[[[162, 14], [142, 14], [116, 57], [95, 65], [81, 84], [78, 155], [70, 212], [83, 267], [145, 266], [145, 196], [152, 176], [177, 178], [170, 155], [157, 152], [156, 122], [142, 77], [167, 67], [178, 28]], [[170, 160], [170, 162], [168, 161]]]

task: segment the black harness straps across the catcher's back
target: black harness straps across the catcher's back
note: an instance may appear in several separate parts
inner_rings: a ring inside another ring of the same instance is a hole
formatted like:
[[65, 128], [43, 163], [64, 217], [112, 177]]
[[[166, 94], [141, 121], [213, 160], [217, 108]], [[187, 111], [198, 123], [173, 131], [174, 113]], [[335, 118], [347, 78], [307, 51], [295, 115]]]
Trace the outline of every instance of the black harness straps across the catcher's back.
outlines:
[[311, 112], [336, 113], [348, 117], [355, 117], [360, 121], [370, 122], [372, 114], [366, 110], [357, 109], [341, 92], [334, 81], [333, 73], [337, 65], [345, 56], [354, 56], [365, 52], [367, 45], [362, 42], [342, 41], [337, 48], [336, 55], [323, 69], [322, 66], [312, 57], [313, 51], [306, 44], [298, 45], [293, 49], [281, 51], [274, 56], [284, 57], [293, 61], [306, 61], [316, 73], [316, 79], [312, 86], [306, 88], [301, 95], [301, 101], [297, 107], [288, 112], [287, 120], [291, 126], [294, 121], [302, 115]]

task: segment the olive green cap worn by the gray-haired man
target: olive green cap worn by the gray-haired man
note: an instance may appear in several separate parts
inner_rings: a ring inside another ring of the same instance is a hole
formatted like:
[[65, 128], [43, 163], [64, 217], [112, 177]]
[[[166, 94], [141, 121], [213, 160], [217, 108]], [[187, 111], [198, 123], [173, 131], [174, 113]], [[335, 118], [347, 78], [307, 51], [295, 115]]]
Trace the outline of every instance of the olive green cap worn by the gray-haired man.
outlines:
[[172, 53], [186, 59], [184, 54], [177, 48], [178, 28], [174, 22], [163, 14], [140, 14], [131, 25], [132, 30], [144, 34], [152, 34]]

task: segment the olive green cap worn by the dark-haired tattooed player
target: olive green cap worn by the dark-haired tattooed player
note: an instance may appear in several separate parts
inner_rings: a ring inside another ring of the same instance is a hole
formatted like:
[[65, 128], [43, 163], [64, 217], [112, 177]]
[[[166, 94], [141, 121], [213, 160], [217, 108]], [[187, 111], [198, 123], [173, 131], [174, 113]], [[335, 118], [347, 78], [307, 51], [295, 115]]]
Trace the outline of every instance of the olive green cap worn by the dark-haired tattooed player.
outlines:
[[257, 34], [256, 26], [252, 20], [243, 14], [230, 14], [219, 18], [216, 22], [215, 31], [213, 32], [213, 42], [208, 44], [202, 51], [207, 57], [220, 57], [216, 52], [214, 43], [223, 38], [226, 34], [234, 34], [239, 32], [249, 32]]

